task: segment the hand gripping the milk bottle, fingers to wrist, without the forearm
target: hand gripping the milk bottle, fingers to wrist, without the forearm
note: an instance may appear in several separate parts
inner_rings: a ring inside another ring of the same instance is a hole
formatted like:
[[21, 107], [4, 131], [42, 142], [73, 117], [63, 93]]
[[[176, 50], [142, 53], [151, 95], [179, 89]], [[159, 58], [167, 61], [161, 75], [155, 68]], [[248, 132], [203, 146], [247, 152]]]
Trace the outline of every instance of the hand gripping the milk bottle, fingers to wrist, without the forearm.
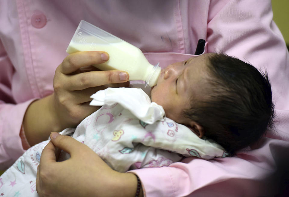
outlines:
[[[57, 67], [53, 80], [53, 104], [59, 130], [74, 127], [99, 107], [90, 106], [90, 96], [107, 87], [128, 86], [128, 73], [119, 70], [99, 71], [92, 64], [107, 61], [106, 52], [76, 52]], [[109, 85], [107, 85], [109, 84]]]

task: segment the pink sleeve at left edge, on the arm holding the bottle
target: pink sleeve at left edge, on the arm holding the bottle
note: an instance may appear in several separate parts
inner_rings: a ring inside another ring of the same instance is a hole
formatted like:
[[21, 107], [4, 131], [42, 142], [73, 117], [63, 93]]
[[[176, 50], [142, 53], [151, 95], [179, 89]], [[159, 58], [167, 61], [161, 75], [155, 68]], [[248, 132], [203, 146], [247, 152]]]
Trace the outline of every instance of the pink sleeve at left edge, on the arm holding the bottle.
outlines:
[[0, 170], [7, 169], [24, 152], [19, 134], [25, 111], [33, 101], [15, 103], [13, 73], [13, 65], [0, 41]]

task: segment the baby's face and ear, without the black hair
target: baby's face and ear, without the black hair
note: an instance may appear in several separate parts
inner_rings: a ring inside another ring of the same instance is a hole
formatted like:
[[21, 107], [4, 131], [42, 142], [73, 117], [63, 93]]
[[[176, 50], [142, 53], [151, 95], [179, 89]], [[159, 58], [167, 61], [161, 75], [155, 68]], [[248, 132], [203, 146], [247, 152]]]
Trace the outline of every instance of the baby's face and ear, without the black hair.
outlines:
[[151, 88], [151, 100], [163, 106], [166, 117], [188, 124], [182, 111], [190, 108], [192, 96], [201, 99], [206, 94], [207, 58], [208, 54], [192, 57], [161, 71], [157, 85]]

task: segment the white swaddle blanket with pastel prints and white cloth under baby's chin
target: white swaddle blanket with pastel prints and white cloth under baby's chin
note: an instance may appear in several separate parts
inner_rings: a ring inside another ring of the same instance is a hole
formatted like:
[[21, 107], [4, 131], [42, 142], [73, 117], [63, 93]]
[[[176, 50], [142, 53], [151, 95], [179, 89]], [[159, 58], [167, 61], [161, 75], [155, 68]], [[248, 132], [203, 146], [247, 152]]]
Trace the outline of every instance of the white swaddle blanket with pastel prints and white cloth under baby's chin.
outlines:
[[[92, 98], [91, 105], [103, 106], [76, 129], [67, 128], [61, 134], [73, 133], [73, 138], [88, 145], [117, 171], [168, 166], [184, 156], [211, 159], [228, 155], [217, 143], [200, 139], [184, 125], [166, 118], [163, 108], [151, 102], [142, 89], [107, 88]], [[0, 194], [37, 196], [37, 166], [47, 143], [28, 149], [2, 174]]]

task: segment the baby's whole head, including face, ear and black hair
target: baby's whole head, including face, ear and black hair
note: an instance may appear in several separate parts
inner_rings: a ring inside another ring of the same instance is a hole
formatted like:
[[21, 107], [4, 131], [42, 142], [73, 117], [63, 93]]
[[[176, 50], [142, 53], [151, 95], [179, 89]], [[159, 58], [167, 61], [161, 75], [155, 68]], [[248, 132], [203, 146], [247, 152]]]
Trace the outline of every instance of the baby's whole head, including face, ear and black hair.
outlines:
[[230, 153], [258, 141], [273, 123], [268, 75], [224, 54], [169, 65], [151, 89], [151, 99], [163, 106], [166, 117]]

